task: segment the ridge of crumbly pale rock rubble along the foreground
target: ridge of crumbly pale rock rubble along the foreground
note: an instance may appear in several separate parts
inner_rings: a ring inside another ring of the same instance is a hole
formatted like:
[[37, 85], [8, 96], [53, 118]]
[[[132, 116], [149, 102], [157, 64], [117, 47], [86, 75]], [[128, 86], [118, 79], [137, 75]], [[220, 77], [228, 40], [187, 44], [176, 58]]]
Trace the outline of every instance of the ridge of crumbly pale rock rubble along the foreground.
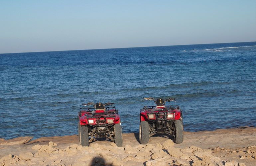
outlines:
[[[168, 139], [156, 145], [117, 147], [110, 145], [91, 144], [83, 147], [71, 144], [65, 148], [57, 148], [52, 141], [48, 145], [34, 145], [32, 152], [6, 155], [0, 160], [0, 166], [21, 165], [176, 165], [176, 166], [244, 166], [236, 161], [223, 161], [212, 155], [211, 149], [201, 149], [196, 146], [176, 148]], [[35, 152], [36, 151], [36, 152]], [[248, 152], [254, 151], [249, 148]]]

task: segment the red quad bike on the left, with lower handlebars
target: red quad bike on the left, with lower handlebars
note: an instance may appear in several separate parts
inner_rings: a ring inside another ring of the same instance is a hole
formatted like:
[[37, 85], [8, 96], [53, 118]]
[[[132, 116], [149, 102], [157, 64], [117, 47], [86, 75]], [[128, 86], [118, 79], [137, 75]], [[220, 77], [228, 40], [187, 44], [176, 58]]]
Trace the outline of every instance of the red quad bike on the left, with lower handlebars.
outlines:
[[96, 138], [108, 138], [119, 147], [123, 144], [122, 128], [114, 103], [82, 104], [78, 112], [78, 136], [82, 146]]

